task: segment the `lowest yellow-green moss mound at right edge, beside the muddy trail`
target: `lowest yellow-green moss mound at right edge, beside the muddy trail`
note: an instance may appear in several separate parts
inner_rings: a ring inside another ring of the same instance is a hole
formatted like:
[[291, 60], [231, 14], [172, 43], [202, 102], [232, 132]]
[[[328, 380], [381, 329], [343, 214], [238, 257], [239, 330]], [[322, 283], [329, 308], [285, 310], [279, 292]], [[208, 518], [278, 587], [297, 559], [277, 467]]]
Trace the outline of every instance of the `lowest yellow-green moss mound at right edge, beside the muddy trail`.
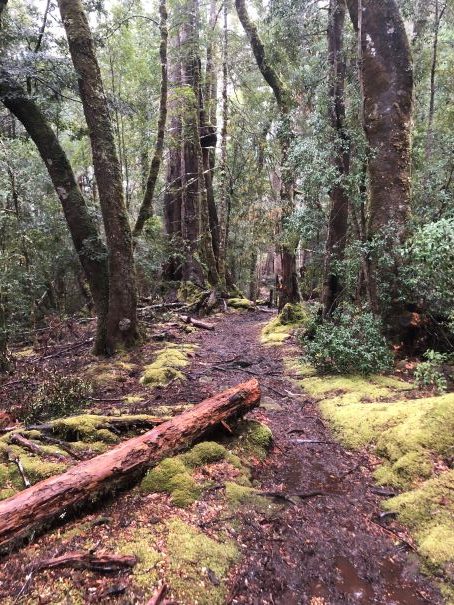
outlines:
[[454, 470], [450, 470], [384, 503], [385, 509], [397, 511], [420, 552], [437, 568], [454, 559], [453, 490]]

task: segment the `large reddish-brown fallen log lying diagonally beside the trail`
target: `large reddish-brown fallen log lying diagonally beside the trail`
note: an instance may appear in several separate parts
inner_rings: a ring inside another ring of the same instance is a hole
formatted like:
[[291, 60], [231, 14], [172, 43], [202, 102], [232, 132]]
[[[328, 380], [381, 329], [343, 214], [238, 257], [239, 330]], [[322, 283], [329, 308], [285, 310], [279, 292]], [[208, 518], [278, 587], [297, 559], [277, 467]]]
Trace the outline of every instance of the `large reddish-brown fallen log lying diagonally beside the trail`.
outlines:
[[67, 509], [137, 479], [166, 456], [188, 448], [222, 421], [246, 414], [260, 403], [253, 379], [202, 401], [151, 431], [73, 466], [0, 502], [0, 547], [52, 523]]

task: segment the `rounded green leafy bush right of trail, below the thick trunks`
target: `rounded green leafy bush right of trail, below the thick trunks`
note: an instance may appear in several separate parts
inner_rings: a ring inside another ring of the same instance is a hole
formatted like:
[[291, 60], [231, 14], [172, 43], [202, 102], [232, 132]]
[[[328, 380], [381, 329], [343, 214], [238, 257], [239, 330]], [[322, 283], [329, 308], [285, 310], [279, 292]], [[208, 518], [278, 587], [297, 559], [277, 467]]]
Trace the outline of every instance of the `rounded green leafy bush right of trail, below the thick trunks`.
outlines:
[[305, 361], [321, 373], [377, 374], [390, 370], [393, 357], [372, 313], [338, 312], [333, 320], [302, 336]]

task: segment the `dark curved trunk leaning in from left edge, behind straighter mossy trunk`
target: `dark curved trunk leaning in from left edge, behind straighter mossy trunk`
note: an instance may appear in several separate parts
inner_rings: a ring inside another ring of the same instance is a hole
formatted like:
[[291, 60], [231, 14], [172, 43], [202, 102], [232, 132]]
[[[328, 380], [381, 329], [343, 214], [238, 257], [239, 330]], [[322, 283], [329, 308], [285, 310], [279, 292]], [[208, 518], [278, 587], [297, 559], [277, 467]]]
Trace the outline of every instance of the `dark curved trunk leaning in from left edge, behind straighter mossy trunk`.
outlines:
[[43, 159], [60, 199], [74, 248], [90, 286], [98, 318], [95, 352], [106, 353], [109, 300], [107, 251], [85, 204], [68, 158], [36, 102], [0, 70], [0, 97], [22, 123]]

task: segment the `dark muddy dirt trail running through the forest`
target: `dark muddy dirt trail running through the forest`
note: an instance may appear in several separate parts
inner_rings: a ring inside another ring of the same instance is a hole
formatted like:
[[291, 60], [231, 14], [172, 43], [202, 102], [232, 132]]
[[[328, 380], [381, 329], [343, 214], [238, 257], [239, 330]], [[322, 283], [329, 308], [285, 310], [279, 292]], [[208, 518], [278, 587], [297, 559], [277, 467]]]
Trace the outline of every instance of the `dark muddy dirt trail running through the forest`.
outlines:
[[[269, 316], [228, 316], [203, 335], [199, 363], [232, 358], [252, 362], [262, 385], [274, 448], [255, 476], [263, 490], [325, 495], [288, 503], [270, 521], [247, 524], [248, 553], [234, 578], [232, 603], [285, 605], [433, 605], [438, 591], [418, 572], [409, 547], [379, 524], [380, 498], [371, 488], [369, 458], [333, 443], [316, 405], [284, 374], [282, 347], [264, 347], [260, 329]], [[288, 349], [288, 347], [287, 347]], [[294, 353], [295, 354], [295, 353]], [[217, 386], [245, 379], [238, 370], [207, 373]], [[278, 393], [295, 396], [286, 398]], [[263, 411], [263, 410], [261, 410]], [[292, 431], [298, 431], [292, 433]], [[314, 439], [319, 444], [297, 444]], [[393, 524], [393, 529], [396, 527]]]

